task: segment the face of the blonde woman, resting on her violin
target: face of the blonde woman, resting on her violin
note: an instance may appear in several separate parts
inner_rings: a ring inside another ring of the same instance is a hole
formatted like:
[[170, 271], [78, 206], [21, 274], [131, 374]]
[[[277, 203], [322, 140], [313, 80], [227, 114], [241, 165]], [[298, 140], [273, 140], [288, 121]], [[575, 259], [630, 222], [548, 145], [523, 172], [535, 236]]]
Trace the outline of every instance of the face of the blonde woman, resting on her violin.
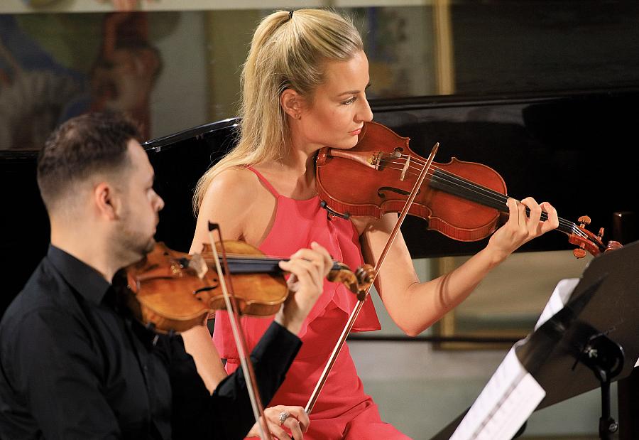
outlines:
[[326, 81], [312, 102], [303, 105], [301, 118], [295, 121], [298, 141], [312, 150], [324, 146], [353, 148], [364, 122], [373, 119], [366, 100], [368, 59], [364, 52], [348, 61], [330, 61]]

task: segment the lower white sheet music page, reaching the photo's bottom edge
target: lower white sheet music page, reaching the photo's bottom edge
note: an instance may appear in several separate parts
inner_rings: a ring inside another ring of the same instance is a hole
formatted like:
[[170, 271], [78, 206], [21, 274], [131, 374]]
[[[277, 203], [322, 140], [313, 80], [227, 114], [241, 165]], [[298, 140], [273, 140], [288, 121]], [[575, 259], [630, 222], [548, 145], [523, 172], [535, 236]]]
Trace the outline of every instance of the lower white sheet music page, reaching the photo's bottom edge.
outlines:
[[546, 392], [515, 355], [503, 359], [451, 440], [510, 440], [535, 411]]

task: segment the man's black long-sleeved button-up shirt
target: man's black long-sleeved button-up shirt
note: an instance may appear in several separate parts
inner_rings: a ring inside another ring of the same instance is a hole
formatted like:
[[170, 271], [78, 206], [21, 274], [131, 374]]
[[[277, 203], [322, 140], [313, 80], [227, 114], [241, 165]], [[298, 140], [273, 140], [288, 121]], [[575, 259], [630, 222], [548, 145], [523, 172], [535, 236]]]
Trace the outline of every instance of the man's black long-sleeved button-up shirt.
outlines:
[[[0, 438], [241, 438], [254, 422], [238, 371], [210, 395], [180, 336], [123, 317], [111, 284], [50, 246], [0, 323]], [[273, 323], [251, 353], [264, 404], [299, 350]]]

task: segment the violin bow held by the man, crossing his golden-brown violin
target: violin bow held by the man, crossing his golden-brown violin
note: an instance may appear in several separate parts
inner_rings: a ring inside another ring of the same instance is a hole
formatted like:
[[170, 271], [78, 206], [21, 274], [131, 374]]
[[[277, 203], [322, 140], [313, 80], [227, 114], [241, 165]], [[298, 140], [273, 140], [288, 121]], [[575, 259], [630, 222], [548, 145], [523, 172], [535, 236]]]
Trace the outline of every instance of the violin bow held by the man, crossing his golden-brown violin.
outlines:
[[268, 426], [266, 426], [264, 407], [260, 398], [257, 380], [255, 377], [255, 371], [253, 370], [253, 364], [251, 363], [251, 358], [249, 358], [249, 355], [247, 354], [246, 339], [244, 338], [244, 331], [241, 328], [241, 323], [238, 316], [239, 307], [235, 295], [232, 294], [233, 285], [231, 284], [231, 278], [229, 277], [228, 285], [231, 290], [231, 294], [229, 294], [229, 289], [226, 288], [226, 280], [224, 279], [222, 266], [219, 263], [220, 259], [217, 253], [217, 248], [215, 247], [213, 230], [217, 230], [217, 233], [219, 235], [219, 244], [222, 248], [222, 261], [224, 262], [224, 271], [227, 274], [230, 274], [231, 272], [229, 272], [229, 267], [226, 262], [224, 243], [222, 242], [222, 232], [220, 232], [219, 225], [217, 225], [217, 223], [209, 222], [209, 240], [211, 242], [211, 249], [215, 260], [215, 269], [217, 269], [219, 284], [220, 287], [222, 287], [222, 294], [224, 295], [226, 311], [229, 313], [229, 320], [231, 321], [231, 331], [233, 332], [233, 338], [235, 340], [235, 345], [237, 346], [237, 352], [239, 355], [242, 372], [244, 372], [246, 389], [249, 391], [249, 399], [251, 400], [251, 407], [253, 408], [253, 417], [255, 417], [255, 421], [258, 424], [260, 438], [262, 440], [272, 440], [271, 432], [268, 431]]

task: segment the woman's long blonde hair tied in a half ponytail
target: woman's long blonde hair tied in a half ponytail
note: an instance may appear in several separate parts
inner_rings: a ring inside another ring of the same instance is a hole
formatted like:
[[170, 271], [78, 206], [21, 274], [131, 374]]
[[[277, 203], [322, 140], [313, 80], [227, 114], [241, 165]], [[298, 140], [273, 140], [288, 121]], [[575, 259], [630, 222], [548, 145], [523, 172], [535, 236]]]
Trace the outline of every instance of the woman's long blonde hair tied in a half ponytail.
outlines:
[[363, 48], [353, 22], [334, 11], [276, 11], [263, 18], [241, 73], [238, 144], [197, 182], [195, 214], [212, 180], [222, 171], [288, 154], [289, 129], [280, 106], [284, 90], [293, 89], [312, 100], [324, 81], [326, 62], [350, 60]]

